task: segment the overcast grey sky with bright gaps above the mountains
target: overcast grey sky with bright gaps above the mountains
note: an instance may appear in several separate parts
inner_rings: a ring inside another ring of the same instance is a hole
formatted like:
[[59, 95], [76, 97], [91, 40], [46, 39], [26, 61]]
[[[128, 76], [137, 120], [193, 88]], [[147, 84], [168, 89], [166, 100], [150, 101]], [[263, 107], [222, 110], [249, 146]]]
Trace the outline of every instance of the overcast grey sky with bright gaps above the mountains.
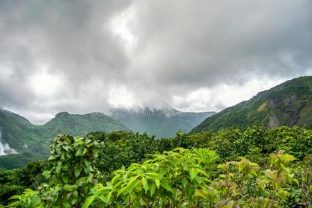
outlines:
[[311, 0], [0, 0], [0, 106], [220, 111], [312, 74]]

